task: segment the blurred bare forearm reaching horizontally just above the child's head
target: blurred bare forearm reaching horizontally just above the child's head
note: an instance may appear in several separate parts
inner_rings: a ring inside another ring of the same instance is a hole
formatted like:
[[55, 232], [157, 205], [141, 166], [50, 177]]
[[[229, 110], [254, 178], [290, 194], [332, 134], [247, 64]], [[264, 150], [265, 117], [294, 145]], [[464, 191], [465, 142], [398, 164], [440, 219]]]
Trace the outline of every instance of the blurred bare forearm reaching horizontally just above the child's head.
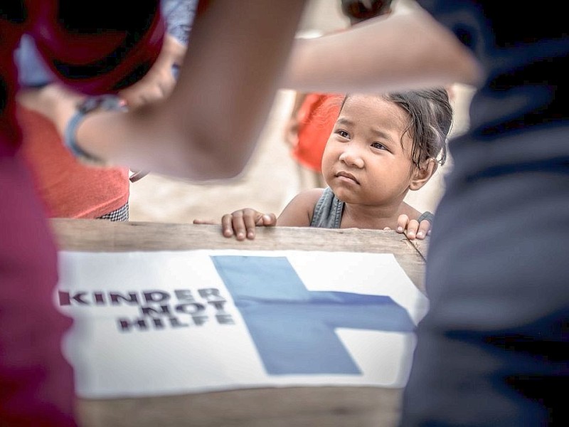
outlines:
[[295, 41], [283, 87], [385, 92], [450, 83], [474, 85], [480, 78], [474, 56], [421, 9]]

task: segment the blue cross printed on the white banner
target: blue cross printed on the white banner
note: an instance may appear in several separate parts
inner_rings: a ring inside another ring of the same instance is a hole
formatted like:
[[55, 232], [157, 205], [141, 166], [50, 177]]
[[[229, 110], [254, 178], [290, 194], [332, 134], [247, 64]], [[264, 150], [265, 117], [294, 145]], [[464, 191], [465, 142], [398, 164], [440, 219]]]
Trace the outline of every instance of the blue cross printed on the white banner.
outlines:
[[211, 258], [269, 374], [361, 374], [337, 327], [415, 330], [390, 297], [310, 292], [285, 257]]

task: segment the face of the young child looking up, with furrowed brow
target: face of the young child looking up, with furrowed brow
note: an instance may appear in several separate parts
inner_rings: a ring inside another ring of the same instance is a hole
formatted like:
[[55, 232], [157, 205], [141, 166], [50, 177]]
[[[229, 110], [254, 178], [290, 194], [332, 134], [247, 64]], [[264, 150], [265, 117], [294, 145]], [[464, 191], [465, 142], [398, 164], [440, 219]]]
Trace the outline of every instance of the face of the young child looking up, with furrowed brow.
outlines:
[[413, 172], [412, 141], [408, 133], [403, 137], [407, 123], [393, 102], [348, 97], [322, 157], [326, 183], [341, 201], [383, 206], [403, 200]]

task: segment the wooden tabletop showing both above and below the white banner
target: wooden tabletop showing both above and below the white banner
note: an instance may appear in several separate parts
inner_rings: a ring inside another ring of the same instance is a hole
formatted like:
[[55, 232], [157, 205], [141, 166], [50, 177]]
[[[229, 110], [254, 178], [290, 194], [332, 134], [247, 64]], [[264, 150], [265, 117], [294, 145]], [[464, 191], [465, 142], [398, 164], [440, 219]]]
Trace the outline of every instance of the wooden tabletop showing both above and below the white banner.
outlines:
[[[235, 241], [220, 226], [51, 220], [60, 249], [159, 251], [191, 249], [303, 250], [393, 253], [419, 289], [425, 260], [420, 245], [393, 231], [356, 228], [259, 228], [253, 241]], [[306, 386], [239, 389], [139, 399], [78, 399], [84, 427], [392, 427], [401, 389]]]

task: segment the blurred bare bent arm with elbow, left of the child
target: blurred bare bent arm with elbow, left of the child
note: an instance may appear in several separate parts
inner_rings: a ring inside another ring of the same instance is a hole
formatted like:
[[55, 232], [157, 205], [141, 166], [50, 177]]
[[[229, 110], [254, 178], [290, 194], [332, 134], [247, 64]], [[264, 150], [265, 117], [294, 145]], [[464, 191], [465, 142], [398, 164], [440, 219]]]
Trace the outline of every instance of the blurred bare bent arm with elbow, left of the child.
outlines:
[[[272, 107], [304, 0], [216, 0], [193, 23], [173, 93], [89, 115], [85, 152], [186, 179], [226, 179], [250, 158]], [[101, 130], [105, 130], [102, 135]]]

